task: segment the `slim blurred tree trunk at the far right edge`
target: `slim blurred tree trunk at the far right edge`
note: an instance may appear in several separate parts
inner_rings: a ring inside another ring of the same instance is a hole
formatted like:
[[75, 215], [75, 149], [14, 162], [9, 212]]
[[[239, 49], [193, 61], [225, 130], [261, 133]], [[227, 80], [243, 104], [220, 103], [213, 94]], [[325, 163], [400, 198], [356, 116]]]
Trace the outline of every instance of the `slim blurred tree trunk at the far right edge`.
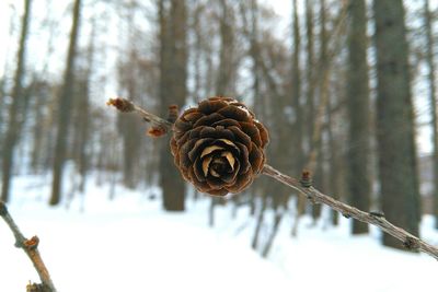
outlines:
[[434, 17], [429, 8], [429, 0], [425, 0], [425, 26], [426, 26], [426, 60], [429, 67], [429, 104], [431, 117], [431, 140], [433, 140], [433, 163], [434, 163], [434, 214], [435, 227], [438, 229], [438, 121], [437, 121], [437, 85], [436, 85], [436, 66], [434, 59]]

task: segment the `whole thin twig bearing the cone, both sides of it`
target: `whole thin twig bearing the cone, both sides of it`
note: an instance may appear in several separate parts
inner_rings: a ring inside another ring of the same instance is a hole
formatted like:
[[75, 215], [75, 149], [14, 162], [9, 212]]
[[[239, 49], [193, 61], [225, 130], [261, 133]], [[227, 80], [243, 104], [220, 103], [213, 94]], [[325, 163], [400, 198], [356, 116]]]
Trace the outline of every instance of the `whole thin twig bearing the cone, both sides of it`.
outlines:
[[[127, 103], [127, 104], [122, 104], [122, 103]], [[115, 106], [117, 109], [120, 112], [137, 112], [143, 117], [147, 117], [147, 121], [153, 122], [155, 126], [159, 127], [164, 127], [169, 131], [172, 130], [172, 122], [162, 119], [151, 113], [148, 113], [145, 109], [141, 109], [140, 107], [134, 105], [131, 102], [123, 98], [117, 98], [117, 100], [110, 100], [107, 102], [108, 105]], [[118, 106], [117, 106], [118, 105]], [[124, 106], [122, 106], [124, 105]], [[126, 109], [128, 108], [128, 109]], [[168, 132], [169, 132], [168, 131]], [[403, 244], [403, 246], [410, 250], [418, 250], [428, 254], [429, 256], [434, 257], [435, 259], [438, 260], [438, 248], [422, 241], [420, 238], [416, 237], [415, 235], [408, 233], [407, 231], [395, 226], [391, 222], [389, 222], [383, 213], [379, 212], [365, 212], [361, 211], [355, 207], [351, 207], [349, 205], [346, 205], [339, 200], [334, 199], [331, 196], [327, 196], [320, 190], [315, 189], [311, 185], [311, 179], [309, 172], [303, 172], [301, 179], [293, 178], [291, 176], [285, 175], [274, 168], [270, 165], [265, 164], [263, 167], [262, 173], [264, 175], [267, 175], [286, 186], [293, 188], [297, 190], [299, 194], [303, 195], [309, 199], [312, 203], [323, 203], [328, 206], [335, 211], [341, 212], [345, 218], [354, 218], [356, 220], [359, 220], [361, 222], [372, 224], [374, 226], [378, 226], [381, 231], [392, 235], [393, 237], [400, 240]]]

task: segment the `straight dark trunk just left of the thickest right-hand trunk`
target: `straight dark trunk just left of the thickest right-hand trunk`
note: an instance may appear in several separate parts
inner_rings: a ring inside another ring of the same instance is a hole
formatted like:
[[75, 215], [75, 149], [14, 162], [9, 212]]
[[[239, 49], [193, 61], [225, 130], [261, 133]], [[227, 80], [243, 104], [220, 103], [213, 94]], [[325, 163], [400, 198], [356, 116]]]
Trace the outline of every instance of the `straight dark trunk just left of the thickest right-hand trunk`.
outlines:
[[[353, 206], [369, 210], [371, 179], [369, 172], [369, 85], [367, 62], [367, 15], [365, 0], [349, 4], [347, 108], [348, 188]], [[354, 234], [367, 233], [368, 225], [353, 221]]]

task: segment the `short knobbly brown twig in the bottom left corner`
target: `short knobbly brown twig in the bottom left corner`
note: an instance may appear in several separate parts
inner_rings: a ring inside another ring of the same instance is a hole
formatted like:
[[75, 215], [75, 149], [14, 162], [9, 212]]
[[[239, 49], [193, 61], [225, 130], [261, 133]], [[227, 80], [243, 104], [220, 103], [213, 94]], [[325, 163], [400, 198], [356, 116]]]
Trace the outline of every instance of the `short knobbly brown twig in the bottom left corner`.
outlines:
[[[26, 253], [28, 258], [34, 264], [35, 270], [37, 271], [42, 281], [42, 284], [28, 284], [27, 291], [56, 292], [55, 285], [50, 279], [50, 275], [46, 266], [44, 265], [44, 261], [38, 252], [39, 238], [37, 236], [33, 236], [31, 240], [24, 237], [19, 226], [12, 219], [11, 214], [9, 213], [5, 203], [2, 201], [0, 201], [0, 217], [3, 218], [4, 222], [7, 222], [8, 226], [14, 235], [15, 247], [22, 248]], [[35, 288], [38, 288], [39, 290], [35, 290]]]

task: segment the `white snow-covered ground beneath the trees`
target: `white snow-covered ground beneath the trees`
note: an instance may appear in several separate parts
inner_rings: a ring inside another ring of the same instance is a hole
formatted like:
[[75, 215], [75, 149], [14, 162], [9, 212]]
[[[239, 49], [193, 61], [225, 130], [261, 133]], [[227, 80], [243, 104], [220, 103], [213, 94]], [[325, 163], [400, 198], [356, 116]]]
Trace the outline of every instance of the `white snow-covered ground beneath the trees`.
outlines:
[[[438, 291], [438, 262], [379, 245], [379, 232], [348, 235], [339, 227], [300, 223], [290, 237], [286, 218], [268, 259], [252, 250], [254, 219], [218, 207], [208, 227], [208, 199], [187, 202], [187, 212], [166, 213], [146, 191], [88, 185], [69, 209], [47, 207], [48, 179], [13, 182], [9, 210], [25, 236], [37, 234], [39, 250], [60, 292], [68, 291]], [[84, 207], [84, 210], [82, 209]], [[424, 237], [438, 244], [433, 220]], [[267, 232], [264, 234], [266, 235]], [[38, 282], [25, 254], [0, 222], [0, 291], [20, 292]]]

